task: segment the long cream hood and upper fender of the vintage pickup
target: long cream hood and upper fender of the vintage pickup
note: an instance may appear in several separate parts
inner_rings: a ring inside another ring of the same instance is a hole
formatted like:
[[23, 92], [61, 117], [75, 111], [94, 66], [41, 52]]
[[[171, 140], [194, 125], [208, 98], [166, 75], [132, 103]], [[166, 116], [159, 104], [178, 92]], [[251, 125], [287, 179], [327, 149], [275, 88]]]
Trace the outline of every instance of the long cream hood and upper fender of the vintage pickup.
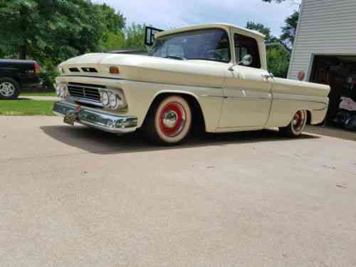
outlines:
[[[224, 70], [229, 66], [214, 61], [180, 61], [152, 56], [90, 53], [70, 58], [59, 67], [63, 68], [63, 75], [221, 88], [224, 83]], [[120, 74], [110, 74], [110, 67], [119, 68]], [[73, 71], [73, 68], [77, 68], [79, 72]]]

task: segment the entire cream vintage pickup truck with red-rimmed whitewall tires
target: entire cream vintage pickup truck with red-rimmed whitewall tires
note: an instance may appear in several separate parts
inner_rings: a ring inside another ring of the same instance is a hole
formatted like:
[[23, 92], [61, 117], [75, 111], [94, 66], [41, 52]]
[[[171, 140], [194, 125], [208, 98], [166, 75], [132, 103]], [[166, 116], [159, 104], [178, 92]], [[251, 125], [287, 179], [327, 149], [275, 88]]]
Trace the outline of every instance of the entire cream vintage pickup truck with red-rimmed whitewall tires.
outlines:
[[225, 23], [155, 34], [147, 56], [89, 53], [58, 67], [64, 122], [112, 133], [142, 129], [162, 144], [182, 142], [193, 127], [238, 132], [278, 127], [296, 137], [323, 122], [326, 85], [268, 73], [264, 36]]

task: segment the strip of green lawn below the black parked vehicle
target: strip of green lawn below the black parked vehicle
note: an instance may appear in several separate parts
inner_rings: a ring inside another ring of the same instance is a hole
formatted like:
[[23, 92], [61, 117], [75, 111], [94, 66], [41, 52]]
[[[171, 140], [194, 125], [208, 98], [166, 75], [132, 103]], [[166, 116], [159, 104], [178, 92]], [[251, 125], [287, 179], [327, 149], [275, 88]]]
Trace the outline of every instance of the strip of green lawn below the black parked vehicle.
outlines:
[[53, 115], [56, 101], [0, 100], [0, 115]]

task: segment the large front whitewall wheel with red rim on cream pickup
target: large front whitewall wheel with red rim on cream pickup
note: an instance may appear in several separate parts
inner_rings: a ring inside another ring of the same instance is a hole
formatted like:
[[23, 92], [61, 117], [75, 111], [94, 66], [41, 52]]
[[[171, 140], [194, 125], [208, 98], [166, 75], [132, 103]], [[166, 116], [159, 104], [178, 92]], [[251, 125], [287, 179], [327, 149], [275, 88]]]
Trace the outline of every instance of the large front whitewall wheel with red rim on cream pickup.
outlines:
[[151, 108], [143, 131], [153, 142], [177, 145], [189, 135], [191, 127], [192, 110], [187, 100], [172, 95]]

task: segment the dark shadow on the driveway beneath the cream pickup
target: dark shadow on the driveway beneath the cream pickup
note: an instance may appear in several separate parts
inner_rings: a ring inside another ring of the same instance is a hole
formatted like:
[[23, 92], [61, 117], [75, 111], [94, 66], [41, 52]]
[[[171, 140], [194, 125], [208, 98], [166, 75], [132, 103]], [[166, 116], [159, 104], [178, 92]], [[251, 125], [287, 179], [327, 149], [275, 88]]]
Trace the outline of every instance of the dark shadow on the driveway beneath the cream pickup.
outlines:
[[71, 147], [78, 147], [91, 153], [108, 155], [127, 152], [143, 152], [152, 150], [172, 150], [177, 148], [204, 147], [211, 145], [246, 144], [256, 142], [286, 141], [290, 142], [319, 138], [304, 134], [296, 139], [283, 137], [277, 130], [261, 130], [252, 132], [234, 132], [223, 134], [201, 133], [189, 137], [187, 142], [177, 146], [159, 146], [145, 140], [141, 132], [127, 135], [113, 135], [108, 132], [91, 129], [85, 126], [42, 126], [41, 130], [53, 139]]

